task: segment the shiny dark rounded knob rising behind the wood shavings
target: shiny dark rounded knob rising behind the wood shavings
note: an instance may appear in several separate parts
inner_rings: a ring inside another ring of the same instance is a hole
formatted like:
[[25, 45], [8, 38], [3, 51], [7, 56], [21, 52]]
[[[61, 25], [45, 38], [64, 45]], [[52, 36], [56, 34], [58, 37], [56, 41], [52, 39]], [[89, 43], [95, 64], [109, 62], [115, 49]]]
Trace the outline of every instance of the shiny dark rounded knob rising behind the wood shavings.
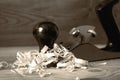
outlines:
[[49, 21], [40, 22], [33, 28], [33, 36], [38, 42], [39, 51], [45, 45], [52, 49], [58, 34], [59, 30], [57, 25]]

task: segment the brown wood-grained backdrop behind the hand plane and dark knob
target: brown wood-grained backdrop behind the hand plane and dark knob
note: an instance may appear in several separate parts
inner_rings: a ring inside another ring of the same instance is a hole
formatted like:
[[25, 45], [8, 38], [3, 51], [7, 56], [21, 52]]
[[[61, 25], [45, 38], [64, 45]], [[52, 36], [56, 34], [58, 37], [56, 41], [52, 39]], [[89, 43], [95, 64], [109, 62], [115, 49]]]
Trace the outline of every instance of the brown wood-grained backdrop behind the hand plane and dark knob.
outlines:
[[[67, 42], [68, 32], [79, 25], [96, 26], [98, 36], [93, 43], [105, 43], [106, 35], [95, 14], [102, 0], [0, 0], [0, 46], [37, 45], [32, 29], [41, 21], [53, 21], [60, 30], [57, 42]], [[114, 17], [120, 25], [120, 3]], [[70, 40], [70, 39], [69, 39]]]

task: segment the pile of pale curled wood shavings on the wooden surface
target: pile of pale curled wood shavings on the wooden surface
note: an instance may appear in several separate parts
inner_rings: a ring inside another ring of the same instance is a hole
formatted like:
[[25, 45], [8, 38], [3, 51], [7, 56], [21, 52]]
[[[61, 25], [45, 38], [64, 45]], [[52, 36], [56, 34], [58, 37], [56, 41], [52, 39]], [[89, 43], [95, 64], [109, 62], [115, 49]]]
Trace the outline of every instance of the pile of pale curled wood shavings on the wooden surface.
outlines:
[[22, 76], [33, 73], [38, 73], [40, 77], [51, 75], [45, 70], [52, 63], [56, 64], [56, 68], [63, 68], [70, 72], [75, 69], [86, 69], [88, 65], [88, 61], [76, 58], [64, 46], [57, 44], [54, 44], [53, 49], [44, 46], [40, 52], [37, 50], [18, 51], [16, 58], [17, 60], [13, 63], [13, 71]]

